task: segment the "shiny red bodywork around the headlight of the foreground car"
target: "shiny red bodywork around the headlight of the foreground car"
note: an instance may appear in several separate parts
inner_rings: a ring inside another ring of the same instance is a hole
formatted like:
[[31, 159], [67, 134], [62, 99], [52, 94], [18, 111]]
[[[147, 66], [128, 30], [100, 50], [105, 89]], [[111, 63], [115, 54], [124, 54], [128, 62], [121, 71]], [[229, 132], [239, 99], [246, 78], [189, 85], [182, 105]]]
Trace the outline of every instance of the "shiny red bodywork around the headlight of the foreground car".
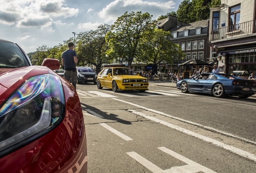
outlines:
[[[54, 74], [44, 66], [0, 69], [0, 105], [28, 78]], [[0, 158], [0, 173], [73, 173], [87, 172], [85, 122], [74, 87], [61, 78], [66, 100], [65, 116], [52, 131]]]

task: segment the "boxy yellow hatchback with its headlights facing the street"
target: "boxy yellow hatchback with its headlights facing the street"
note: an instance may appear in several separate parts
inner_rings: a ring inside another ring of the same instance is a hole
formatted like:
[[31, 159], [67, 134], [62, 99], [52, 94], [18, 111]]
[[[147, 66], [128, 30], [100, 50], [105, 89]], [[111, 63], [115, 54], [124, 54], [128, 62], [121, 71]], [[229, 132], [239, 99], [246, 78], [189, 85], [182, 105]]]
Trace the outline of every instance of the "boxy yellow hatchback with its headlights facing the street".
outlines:
[[106, 67], [97, 75], [97, 88], [120, 90], [138, 90], [144, 92], [149, 87], [149, 79], [136, 74], [132, 69], [125, 67]]

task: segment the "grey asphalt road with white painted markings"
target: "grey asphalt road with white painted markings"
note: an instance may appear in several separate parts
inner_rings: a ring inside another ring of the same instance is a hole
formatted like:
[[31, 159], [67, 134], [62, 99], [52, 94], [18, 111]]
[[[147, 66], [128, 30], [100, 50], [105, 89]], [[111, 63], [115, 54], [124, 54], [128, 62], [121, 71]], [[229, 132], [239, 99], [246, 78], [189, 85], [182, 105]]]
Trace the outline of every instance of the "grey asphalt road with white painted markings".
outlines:
[[78, 84], [89, 173], [256, 172], [256, 99]]

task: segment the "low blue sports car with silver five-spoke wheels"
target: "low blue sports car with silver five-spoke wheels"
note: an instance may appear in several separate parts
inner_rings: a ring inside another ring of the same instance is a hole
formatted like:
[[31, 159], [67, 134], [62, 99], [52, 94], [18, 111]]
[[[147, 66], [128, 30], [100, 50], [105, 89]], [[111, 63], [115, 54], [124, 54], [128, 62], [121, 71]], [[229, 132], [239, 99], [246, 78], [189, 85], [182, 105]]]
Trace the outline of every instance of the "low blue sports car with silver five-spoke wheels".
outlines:
[[214, 97], [235, 95], [248, 98], [256, 94], [256, 80], [248, 80], [224, 73], [202, 73], [194, 78], [180, 80], [176, 84], [182, 93], [189, 91], [212, 94]]

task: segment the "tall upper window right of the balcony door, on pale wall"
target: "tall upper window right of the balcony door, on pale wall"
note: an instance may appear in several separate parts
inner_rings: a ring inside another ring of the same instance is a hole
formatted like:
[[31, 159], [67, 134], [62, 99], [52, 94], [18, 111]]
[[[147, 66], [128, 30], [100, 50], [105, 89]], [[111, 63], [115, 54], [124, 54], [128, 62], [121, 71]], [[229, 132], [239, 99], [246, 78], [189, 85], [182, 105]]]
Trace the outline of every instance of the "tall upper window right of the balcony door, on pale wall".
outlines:
[[240, 28], [240, 9], [241, 5], [231, 7], [229, 10], [229, 31]]

